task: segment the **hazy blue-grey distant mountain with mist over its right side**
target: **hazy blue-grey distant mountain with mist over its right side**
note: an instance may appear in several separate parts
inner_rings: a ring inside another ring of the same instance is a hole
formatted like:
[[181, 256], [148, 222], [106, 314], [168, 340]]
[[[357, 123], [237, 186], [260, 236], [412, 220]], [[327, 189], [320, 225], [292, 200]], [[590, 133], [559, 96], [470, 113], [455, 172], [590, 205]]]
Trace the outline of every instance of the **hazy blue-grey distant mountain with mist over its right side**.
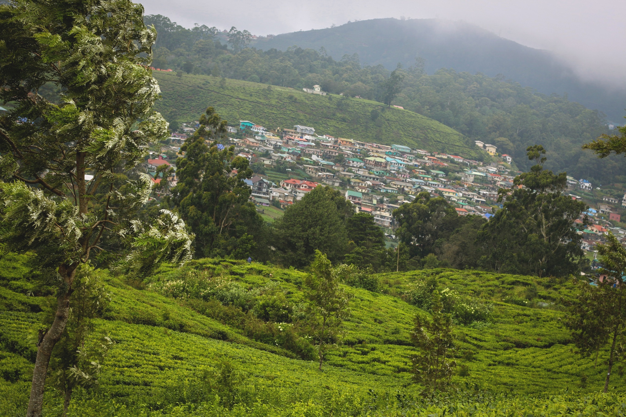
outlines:
[[528, 48], [463, 22], [371, 19], [336, 28], [280, 34], [262, 38], [253, 45], [264, 51], [271, 48], [285, 51], [294, 45], [316, 50], [324, 47], [337, 60], [344, 54], [357, 53], [361, 62], [382, 64], [390, 70], [398, 63], [411, 66], [414, 58], [420, 57], [426, 60], [429, 74], [440, 68], [492, 77], [503, 74], [506, 79], [544, 94], [565, 93], [573, 101], [598, 109], [617, 123], [621, 123], [626, 107], [626, 86], [608, 89], [587, 83], [548, 51]]

